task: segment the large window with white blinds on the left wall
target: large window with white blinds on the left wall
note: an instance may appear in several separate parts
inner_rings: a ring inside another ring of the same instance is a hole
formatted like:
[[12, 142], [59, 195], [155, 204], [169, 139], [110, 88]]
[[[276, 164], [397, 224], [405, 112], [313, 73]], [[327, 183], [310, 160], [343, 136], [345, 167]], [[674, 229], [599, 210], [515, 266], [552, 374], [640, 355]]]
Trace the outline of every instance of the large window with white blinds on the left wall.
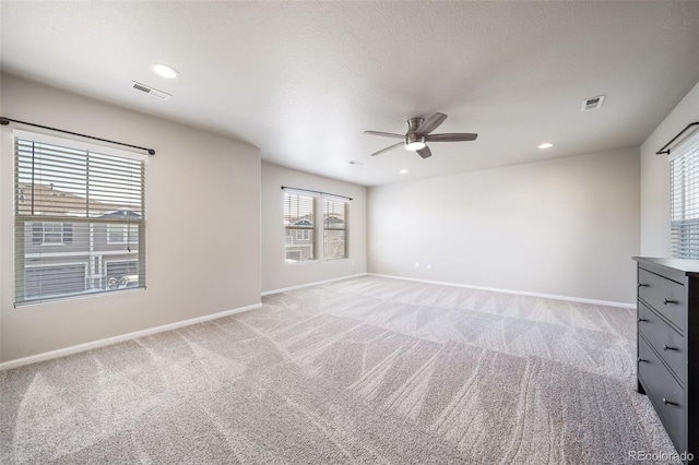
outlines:
[[145, 287], [145, 163], [14, 138], [15, 305]]

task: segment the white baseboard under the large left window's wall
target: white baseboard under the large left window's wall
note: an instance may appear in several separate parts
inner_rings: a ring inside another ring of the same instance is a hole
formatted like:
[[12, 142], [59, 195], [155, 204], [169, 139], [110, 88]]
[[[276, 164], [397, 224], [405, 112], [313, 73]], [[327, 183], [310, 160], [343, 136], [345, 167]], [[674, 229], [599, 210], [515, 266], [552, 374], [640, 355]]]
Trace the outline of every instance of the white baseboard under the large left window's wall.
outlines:
[[204, 317], [192, 318], [190, 320], [178, 321], [176, 323], [164, 324], [162, 326], [149, 327], [147, 330], [135, 331], [133, 333], [121, 334], [119, 336], [106, 337], [99, 341], [93, 341], [85, 344], [79, 344], [76, 346], [70, 346], [60, 348], [57, 350], [45, 351], [43, 354], [31, 355], [28, 357], [17, 358], [10, 361], [0, 363], [0, 371], [9, 370], [11, 368], [17, 368], [25, 365], [36, 363], [38, 361], [50, 360], [54, 358], [64, 357], [71, 354], [78, 354], [85, 350], [91, 350], [98, 347], [108, 346], [125, 341], [135, 339], [143, 336], [150, 336], [151, 334], [162, 333], [164, 331], [177, 330], [178, 327], [185, 327], [197, 323], [203, 323], [205, 321], [216, 320], [223, 317], [228, 317], [236, 313], [242, 313], [244, 311], [254, 310], [262, 307], [262, 303], [254, 303], [247, 307], [240, 307], [233, 310], [226, 310], [218, 313], [208, 314]]

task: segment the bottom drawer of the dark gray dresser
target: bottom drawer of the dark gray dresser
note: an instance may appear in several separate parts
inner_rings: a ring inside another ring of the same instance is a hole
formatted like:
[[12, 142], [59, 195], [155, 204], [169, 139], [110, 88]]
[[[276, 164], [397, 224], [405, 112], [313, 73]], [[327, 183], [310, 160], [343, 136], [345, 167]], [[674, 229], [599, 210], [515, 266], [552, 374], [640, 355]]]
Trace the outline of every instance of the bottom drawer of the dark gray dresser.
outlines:
[[686, 450], [685, 391], [657, 359], [645, 339], [638, 338], [638, 375], [677, 451]]

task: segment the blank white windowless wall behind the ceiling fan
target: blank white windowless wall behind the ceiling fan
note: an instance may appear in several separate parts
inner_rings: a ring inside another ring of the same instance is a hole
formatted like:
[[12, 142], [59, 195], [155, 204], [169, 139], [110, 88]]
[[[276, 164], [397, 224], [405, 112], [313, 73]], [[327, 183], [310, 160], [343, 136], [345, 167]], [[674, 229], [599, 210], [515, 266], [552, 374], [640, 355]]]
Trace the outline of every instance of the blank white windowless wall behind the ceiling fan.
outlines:
[[633, 302], [639, 171], [627, 148], [370, 188], [368, 270]]

